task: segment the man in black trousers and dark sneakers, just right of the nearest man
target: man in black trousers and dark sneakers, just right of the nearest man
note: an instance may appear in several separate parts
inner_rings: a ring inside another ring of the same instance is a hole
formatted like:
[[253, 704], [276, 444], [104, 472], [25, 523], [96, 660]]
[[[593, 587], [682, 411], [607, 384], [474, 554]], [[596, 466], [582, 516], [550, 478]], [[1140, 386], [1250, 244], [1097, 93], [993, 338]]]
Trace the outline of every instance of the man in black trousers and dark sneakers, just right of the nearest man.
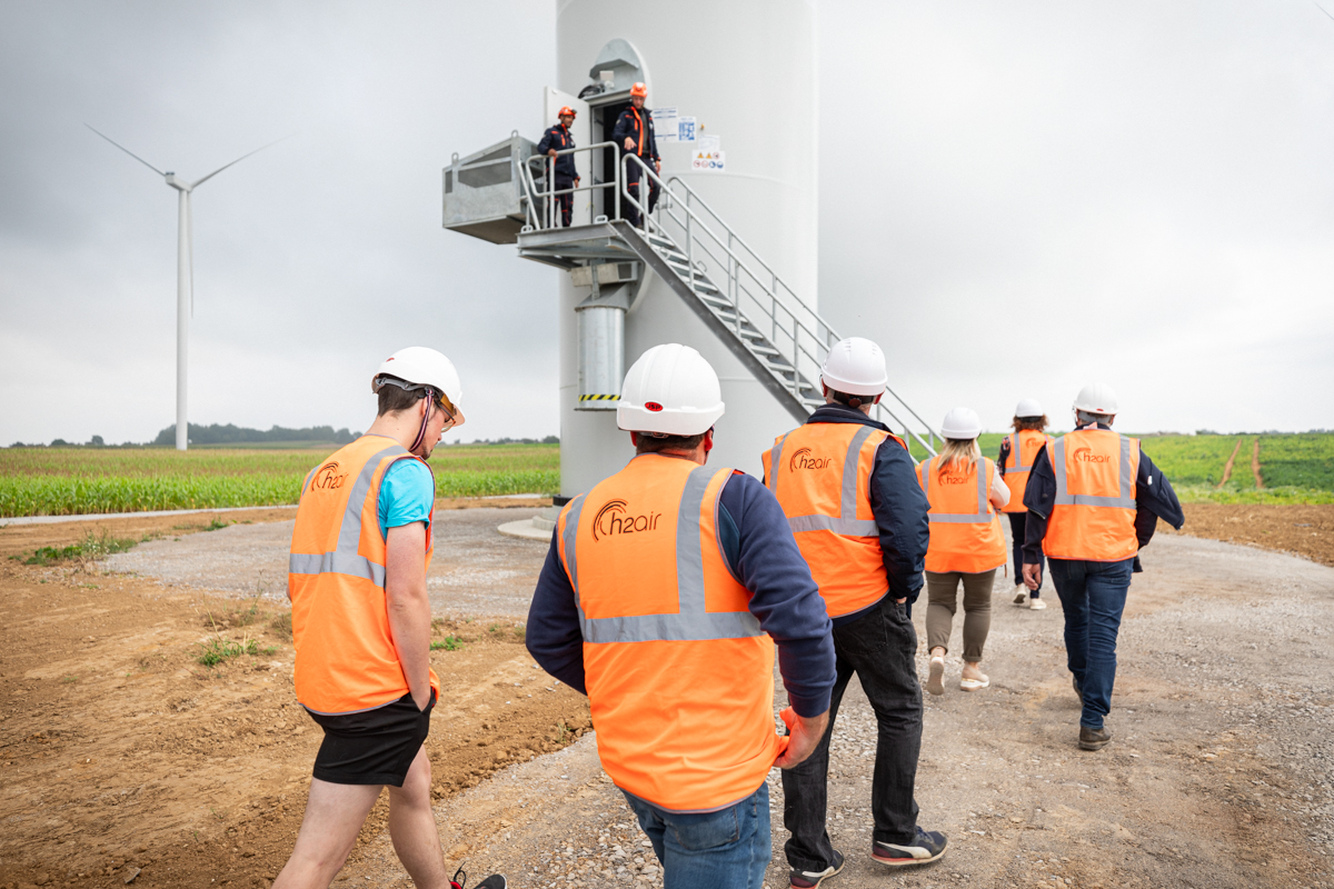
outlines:
[[826, 404], [762, 454], [834, 625], [838, 676], [830, 722], [811, 758], [783, 773], [791, 885], [818, 886], [843, 868], [826, 830], [830, 737], [855, 673], [879, 726], [871, 785], [871, 857], [890, 866], [935, 861], [943, 833], [918, 826], [922, 689], [911, 605], [922, 589], [927, 500], [903, 440], [870, 417], [888, 376], [880, 348], [862, 337], [830, 349]]

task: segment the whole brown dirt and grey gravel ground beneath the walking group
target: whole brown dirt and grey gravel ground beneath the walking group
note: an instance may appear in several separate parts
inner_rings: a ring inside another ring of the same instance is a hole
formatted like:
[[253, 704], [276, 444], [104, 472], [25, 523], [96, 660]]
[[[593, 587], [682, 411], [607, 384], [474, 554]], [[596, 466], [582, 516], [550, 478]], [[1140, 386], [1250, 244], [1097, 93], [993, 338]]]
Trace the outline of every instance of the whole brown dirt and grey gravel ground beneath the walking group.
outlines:
[[[522, 648], [546, 545], [494, 533], [522, 509], [468, 505], [482, 508], [438, 513], [431, 574], [438, 637], [463, 642], [432, 656], [447, 857], [516, 888], [660, 885], [598, 765], [583, 698]], [[217, 518], [235, 524], [109, 520], [115, 537], [159, 538], [52, 566], [7, 556], [79, 542], [99, 522], [0, 528], [0, 888], [264, 886], [285, 860], [320, 733], [292, 697], [281, 602], [256, 590], [280, 594], [291, 510]], [[1187, 522], [1334, 564], [1334, 508], [1194, 505]], [[1074, 746], [1057, 597], [1049, 586], [1046, 612], [1013, 608], [998, 578], [991, 688], [947, 684], [927, 701], [918, 796], [923, 825], [951, 838], [939, 865], [887, 876], [867, 861], [875, 728], [854, 682], [830, 794], [850, 862], [831, 889], [1334, 885], [1334, 570], [1171, 533], [1145, 565], [1122, 629], [1115, 740], [1093, 754]], [[256, 650], [205, 668], [200, 645], [219, 634]], [[770, 785], [767, 882], [782, 886], [776, 773]], [[383, 825], [382, 800], [338, 885], [410, 885]]]

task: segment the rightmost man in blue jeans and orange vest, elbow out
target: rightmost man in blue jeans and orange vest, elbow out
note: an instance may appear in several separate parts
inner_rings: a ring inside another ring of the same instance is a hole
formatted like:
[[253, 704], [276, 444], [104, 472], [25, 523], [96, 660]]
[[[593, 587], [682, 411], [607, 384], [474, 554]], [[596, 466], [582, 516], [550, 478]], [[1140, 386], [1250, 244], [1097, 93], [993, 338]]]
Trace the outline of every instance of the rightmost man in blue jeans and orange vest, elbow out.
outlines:
[[1111, 431], [1117, 393], [1105, 383], [1079, 391], [1075, 431], [1043, 446], [1033, 464], [1023, 502], [1029, 521], [1023, 580], [1042, 582], [1042, 556], [1066, 618], [1066, 658], [1083, 702], [1079, 746], [1111, 741], [1103, 718], [1117, 680], [1117, 634], [1130, 576], [1143, 570], [1139, 550], [1158, 520], [1181, 529], [1186, 517], [1171, 482], [1138, 439]]

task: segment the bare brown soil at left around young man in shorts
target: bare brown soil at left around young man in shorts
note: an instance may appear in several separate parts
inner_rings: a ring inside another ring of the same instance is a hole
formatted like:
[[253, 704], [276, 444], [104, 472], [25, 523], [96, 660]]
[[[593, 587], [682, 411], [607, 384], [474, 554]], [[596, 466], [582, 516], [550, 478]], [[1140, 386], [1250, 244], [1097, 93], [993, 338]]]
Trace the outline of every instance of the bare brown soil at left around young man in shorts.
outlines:
[[[228, 513], [236, 526], [197, 540], [225, 545], [240, 522], [289, 517]], [[172, 534], [160, 541], [171, 545], [212, 521], [188, 518], [107, 524], [119, 537]], [[0, 556], [95, 528], [3, 528]], [[0, 560], [0, 886], [267, 885], [291, 852], [321, 737], [292, 697], [283, 614], [267, 596], [164, 588], [96, 562]], [[584, 700], [534, 669], [514, 620], [442, 620], [436, 636], [463, 645], [432, 654], [436, 797], [590, 728]], [[252, 638], [255, 653], [204, 666], [213, 637]], [[364, 841], [384, 816], [382, 798]]]

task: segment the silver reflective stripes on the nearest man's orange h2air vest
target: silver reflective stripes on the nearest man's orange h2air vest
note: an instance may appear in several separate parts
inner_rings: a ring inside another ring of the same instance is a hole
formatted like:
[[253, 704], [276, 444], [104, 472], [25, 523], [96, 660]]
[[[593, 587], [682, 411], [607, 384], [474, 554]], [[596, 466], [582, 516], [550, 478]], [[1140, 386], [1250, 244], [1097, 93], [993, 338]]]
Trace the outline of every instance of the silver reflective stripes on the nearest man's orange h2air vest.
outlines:
[[[680, 494], [680, 512], [676, 520], [676, 594], [679, 612], [675, 614], [635, 614], [630, 617], [595, 617], [584, 614], [579, 600], [578, 562], [575, 561], [575, 540], [579, 534], [579, 517], [583, 513], [584, 494], [570, 501], [570, 514], [566, 518], [563, 546], [570, 580], [575, 588], [575, 605], [579, 609], [579, 632], [586, 642], [592, 645], [608, 642], [652, 642], [652, 641], [700, 641], [711, 638], [746, 638], [760, 636], [764, 630], [750, 612], [707, 612], [704, 610], [704, 562], [700, 556], [699, 510], [703, 508], [704, 490], [719, 470], [699, 466], [690, 473], [686, 489]], [[720, 472], [731, 472], [723, 469]]]

